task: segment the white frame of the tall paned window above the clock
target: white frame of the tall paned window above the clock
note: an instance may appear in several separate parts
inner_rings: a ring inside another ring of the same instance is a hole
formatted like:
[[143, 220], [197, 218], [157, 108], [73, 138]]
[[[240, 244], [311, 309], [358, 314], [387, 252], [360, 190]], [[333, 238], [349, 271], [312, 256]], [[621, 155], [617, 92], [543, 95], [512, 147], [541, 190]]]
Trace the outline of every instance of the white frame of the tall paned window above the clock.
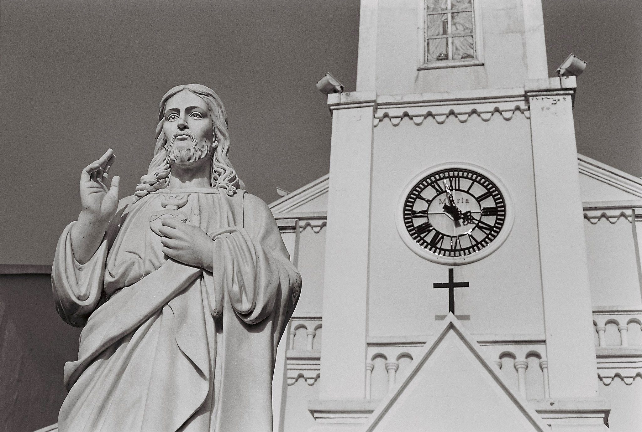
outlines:
[[[473, 43], [474, 43], [474, 58], [458, 59], [458, 60], [434, 60], [432, 62], [426, 61], [426, 21], [427, 21], [427, 3], [428, 0], [417, 0], [417, 10], [419, 17], [417, 22], [417, 70], [425, 71], [427, 69], [446, 69], [451, 67], [466, 67], [466, 66], [483, 66], [483, 41], [482, 41], [482, 11], [480, 0], [471, 0], [473, 5]], [[449, 13], [449, 12], [438, 12]], [[450, 12], [452, 13], [452, 12]], [[435, 13], [436, 14], [436, 13]], [[432, 37], [433, 39], [439, 37]], [[447, 38], [444, 37], [444, 38]]]

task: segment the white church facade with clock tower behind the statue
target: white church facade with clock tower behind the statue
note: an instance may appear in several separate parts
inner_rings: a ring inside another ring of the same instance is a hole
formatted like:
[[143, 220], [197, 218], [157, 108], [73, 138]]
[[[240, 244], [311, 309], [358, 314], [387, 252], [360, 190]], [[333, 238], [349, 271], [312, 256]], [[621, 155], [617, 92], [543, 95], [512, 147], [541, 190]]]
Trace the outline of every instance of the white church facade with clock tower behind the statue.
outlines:
[[642, 430], [642, 181], [577, 154], [576, 89], [539, 0], [361, 0], [329, 174], [270, 204], [275, 431]]

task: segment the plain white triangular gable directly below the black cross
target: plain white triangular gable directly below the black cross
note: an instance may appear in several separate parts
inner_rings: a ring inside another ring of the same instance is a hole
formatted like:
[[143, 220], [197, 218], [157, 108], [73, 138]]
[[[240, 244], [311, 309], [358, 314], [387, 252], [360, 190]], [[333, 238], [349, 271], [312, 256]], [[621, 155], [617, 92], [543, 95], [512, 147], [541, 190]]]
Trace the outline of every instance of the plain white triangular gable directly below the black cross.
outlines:
[[364, 432], [550, 431], [449, 313]]

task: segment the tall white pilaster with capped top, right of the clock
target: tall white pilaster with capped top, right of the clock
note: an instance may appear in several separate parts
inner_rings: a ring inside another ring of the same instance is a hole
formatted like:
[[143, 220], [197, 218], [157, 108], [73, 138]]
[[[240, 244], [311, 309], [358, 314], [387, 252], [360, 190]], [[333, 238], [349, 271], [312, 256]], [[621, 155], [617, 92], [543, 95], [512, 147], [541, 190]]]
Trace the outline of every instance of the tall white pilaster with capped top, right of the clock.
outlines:
[[550, 397], [595, 397], [596, 361], [572, 99], [575, 77], [526, 81]]

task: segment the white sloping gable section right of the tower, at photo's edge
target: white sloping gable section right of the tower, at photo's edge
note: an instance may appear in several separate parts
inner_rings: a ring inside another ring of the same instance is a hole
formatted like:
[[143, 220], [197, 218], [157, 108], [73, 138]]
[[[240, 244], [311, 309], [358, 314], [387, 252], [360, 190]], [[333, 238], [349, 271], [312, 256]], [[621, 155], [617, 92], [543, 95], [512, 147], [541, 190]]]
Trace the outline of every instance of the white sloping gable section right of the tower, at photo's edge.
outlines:
[[577, 159], [583, 202], [642, 198], [641, 179], [582, 154], [578, 154]]

